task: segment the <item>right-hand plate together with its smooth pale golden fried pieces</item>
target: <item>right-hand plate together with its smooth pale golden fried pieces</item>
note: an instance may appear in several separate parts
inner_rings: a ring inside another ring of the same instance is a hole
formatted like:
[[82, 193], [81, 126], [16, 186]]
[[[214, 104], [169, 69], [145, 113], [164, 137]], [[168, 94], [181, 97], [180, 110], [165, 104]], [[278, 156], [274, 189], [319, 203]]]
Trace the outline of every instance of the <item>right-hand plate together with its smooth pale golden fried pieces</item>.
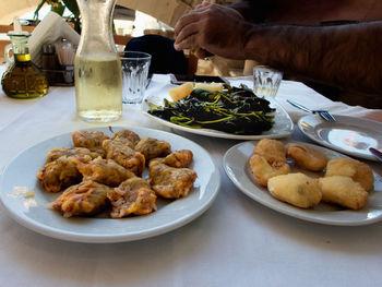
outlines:
[[318, 145], [264, 139], [232, 146], [224, 168], [252, 200], [308, 222], [382, 220], [382, 178], [367, 164]]

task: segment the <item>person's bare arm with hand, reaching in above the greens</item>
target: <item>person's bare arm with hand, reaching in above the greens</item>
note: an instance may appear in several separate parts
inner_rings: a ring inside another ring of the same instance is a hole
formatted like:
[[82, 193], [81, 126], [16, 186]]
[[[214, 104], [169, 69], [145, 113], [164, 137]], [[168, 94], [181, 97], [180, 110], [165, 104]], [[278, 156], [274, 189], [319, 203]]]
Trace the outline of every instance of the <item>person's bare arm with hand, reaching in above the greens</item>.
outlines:
[[300, 81], [382, 94], [382, 21], [338, 25], [258, 25], [210, 4], [182, 17], [176, 49], [201, 47], [230, 59], [252, 59]]

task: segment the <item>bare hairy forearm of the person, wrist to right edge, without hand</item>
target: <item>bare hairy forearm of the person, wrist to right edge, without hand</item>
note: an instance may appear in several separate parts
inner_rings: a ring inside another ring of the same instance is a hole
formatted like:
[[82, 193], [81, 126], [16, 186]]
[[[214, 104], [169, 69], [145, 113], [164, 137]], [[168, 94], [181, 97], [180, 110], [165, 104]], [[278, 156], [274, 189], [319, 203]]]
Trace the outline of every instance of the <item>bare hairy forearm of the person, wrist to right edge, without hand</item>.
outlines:
[[244, 58], [300, 80], [382, 94], [382, 22], [307, 27], [254, 25]]

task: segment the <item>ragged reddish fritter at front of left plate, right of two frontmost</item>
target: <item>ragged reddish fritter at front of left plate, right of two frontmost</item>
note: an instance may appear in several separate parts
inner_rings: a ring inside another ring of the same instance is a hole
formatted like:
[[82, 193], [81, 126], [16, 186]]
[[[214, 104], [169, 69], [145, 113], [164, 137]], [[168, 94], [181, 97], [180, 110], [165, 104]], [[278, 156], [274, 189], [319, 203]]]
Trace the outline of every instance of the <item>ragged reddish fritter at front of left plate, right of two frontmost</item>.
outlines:
[[112, 218], [122, 218], [129, 214], [144, 215], [156, 211], [156, 195], [148, 182], [142, 178], [123, 181], [108, 193], [111, 202]]

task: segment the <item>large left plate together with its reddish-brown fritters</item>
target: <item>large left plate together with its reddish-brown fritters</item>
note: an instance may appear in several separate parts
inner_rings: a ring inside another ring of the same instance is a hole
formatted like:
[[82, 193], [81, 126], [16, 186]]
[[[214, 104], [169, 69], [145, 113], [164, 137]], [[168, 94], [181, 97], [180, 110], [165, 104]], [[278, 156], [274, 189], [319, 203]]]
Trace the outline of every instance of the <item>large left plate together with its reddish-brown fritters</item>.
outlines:
[[[184, 150], [187, 148], [187, 150]], [[145, 128], [96, 128], [45, 140], [4, 169], [0, 199], [25, 227], [77, 242], [160, 235], [205, 212], [220, 176], [200, 145]]]

